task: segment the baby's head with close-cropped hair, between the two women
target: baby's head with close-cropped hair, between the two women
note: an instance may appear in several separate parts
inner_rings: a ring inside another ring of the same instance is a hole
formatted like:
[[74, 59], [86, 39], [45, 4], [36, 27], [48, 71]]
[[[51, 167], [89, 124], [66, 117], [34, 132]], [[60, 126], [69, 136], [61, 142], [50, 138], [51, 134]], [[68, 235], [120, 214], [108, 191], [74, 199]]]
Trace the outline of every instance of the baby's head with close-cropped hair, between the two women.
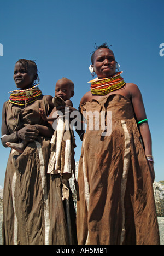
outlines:
[[61, 97], [64, 101], [74, 96], [74, 83], [68, 78], [61, 78], [55, 87], [55, 96]]

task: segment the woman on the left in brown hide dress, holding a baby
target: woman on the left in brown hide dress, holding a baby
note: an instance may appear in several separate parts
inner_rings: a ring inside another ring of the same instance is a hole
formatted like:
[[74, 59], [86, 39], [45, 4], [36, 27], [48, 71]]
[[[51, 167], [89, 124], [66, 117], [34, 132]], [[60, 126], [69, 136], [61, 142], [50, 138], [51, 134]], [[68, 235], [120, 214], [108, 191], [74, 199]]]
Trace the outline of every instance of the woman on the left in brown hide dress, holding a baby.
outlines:
[[53, 108], [52, 96], [43, 96], [33, 86], [37, 78], [36, 63], [17, 61], [14, 81], [20, 90], [11, 92], [3, 106], [3, 146], [28, 142], [21, 154], [11, 149], [8, 159], [3, 198], [4, 245], [76, 243], [73, 201], [70, 197], [62, 200], [60, 176], [47, 174], [53, 130], [40, 117], [39, 108], [48, 115]]

